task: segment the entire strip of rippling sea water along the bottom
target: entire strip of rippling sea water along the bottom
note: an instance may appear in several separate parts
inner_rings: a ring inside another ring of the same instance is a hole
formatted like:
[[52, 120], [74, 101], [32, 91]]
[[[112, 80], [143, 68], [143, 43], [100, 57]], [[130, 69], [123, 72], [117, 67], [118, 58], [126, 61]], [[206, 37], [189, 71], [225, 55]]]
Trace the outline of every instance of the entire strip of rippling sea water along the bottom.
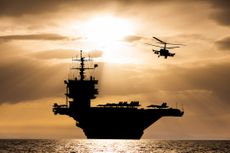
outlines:
[[1, 139], [0, 153], [230, 153], [230, 141]]

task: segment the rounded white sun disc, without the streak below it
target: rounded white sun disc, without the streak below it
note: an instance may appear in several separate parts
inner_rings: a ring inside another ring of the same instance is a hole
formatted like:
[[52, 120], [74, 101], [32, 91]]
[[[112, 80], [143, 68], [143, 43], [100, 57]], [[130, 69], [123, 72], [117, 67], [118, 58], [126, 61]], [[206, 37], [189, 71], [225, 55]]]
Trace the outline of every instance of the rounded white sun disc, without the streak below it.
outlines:
[[87, 40], [111, 44], [133, 33], [130, 21], [111, 15], [96, 16], [86, 21], [83, 33]]

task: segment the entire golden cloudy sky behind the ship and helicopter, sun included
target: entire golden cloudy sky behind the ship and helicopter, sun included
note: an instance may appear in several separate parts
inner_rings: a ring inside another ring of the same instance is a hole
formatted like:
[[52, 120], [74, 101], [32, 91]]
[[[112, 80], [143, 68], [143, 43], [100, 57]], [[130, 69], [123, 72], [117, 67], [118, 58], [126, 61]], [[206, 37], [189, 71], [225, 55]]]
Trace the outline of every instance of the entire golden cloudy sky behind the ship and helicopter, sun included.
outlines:
[[[143, 138], [230, 139], [230, 2], [0, 0], [0, 138], [84, 138], [55, 116], [79, 50], [99, 68], [98, 103], [183, 105]], [[152, 37], [185, 46], [158, 58]]]

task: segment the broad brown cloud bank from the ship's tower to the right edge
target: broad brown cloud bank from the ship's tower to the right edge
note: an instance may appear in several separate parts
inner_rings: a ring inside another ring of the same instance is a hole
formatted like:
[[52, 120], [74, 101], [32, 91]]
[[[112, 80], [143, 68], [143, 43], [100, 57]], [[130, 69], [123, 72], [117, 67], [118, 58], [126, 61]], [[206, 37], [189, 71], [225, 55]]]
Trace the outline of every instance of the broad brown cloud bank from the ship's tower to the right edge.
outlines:
[[[154, 98], [160, 91], [166, 95], [212, 95], [230, 106], [230, 63], [184, 68], [170, 66], [164, 70], [137, 65], [109, 65], [103, 70], [101, 93], [104, 95], [146, 95]], [[121, 77], [122, 76], [122, 77]], [[116, 78], [116, 80], [112, 79]], [[113, 84], [113, 86], [111, 86]], [[167, 98], [167, 97], [164, 97]], [[208, 99], [213, 101], [213, 99]]]

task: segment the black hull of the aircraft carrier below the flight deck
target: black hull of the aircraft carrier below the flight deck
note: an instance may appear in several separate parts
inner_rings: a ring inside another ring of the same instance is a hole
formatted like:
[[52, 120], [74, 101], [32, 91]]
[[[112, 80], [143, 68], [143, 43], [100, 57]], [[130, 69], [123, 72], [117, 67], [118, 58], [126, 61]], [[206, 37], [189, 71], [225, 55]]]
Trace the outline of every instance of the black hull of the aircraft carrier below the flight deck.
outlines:
[[170, 115], [182, 114], [174, 109], [91, 108], [73, 118], [88, 139], [140, 139], [147, 127]]

